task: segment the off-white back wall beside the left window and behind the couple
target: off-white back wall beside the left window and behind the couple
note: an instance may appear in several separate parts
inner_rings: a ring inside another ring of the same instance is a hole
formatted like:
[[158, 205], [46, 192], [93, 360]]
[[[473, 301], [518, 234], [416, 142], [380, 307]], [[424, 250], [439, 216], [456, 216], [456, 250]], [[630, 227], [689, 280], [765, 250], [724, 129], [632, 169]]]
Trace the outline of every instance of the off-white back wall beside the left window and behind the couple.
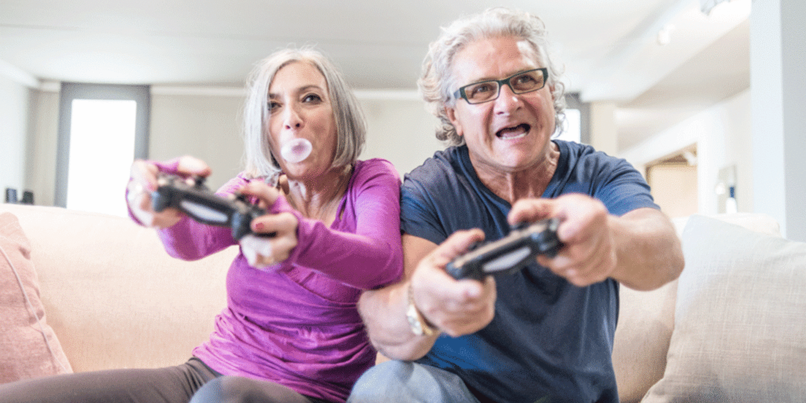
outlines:
[[[36, 90], [33, 95], [31, 132], [34, 135], [29, 141], [27, 189], [34, 191], [36, 204], [52, 206], [56, 186], [59, 93]], [[402, 177], [444, 147], [434, 137], [436, 118], [411, 94], [391, 99], [364, 94], [359, 96], [359, 102], [368, 126], [361, 159], [390, 160]], [[168, 160], [183, 155], [197, 156], [213, 169], [208, 185], [218, 188], [243, 169], [242, 104], [243, 95], [238, 91], [188, 93], [183, 89], [153, 87], [149, 157]], [[20, 141], [24, 141], [24, 135], [22, 137]], [[17, 152], [10, 154], [23, 161], [24, 150], [17, 148]], [[23, 164], [17, 165], [22, 167]]]

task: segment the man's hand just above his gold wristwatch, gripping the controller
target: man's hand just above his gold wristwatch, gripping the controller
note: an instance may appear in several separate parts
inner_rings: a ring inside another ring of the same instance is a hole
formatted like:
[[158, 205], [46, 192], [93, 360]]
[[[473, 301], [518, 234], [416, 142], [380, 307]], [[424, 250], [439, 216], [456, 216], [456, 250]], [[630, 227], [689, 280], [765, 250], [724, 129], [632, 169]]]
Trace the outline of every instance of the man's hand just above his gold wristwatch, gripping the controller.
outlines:
[[455, 280], [445, 266], [484, 239], [481, 230], [457, 231], [420, 261], [411, 277], [414, 304], [431, 325], [453, 337], [471, 334], [487, 326], [495, 314], [496, 284]]

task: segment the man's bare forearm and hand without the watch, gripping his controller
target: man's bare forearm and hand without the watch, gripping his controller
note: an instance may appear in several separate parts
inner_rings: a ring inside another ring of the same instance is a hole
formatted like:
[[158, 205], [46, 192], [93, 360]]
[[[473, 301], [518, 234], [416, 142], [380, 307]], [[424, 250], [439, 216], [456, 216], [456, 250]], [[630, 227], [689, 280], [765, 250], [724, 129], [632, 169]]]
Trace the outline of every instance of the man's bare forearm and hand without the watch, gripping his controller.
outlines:
[[613, 278], [631, 289], [651, 290], [675, 280], [683, 270], [683, 250], [675, 227], [660, 210], [643, 207], [609, 214], [597, 199], [565, 194], [555, 199], [523, 199], [509, 222], [560, 219], [557, 236], [565, 246], [554, 259], [538, 263], [584, 287]]

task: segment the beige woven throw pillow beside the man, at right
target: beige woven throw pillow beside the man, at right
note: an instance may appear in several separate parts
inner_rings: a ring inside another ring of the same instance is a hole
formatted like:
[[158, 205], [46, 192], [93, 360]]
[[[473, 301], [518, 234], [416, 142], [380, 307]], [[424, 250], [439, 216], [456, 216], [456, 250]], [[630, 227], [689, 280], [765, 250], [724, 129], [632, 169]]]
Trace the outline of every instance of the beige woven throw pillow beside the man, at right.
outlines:
[[694, 215], [675, 328], [643, 402], [806, 401], [806, 243]]

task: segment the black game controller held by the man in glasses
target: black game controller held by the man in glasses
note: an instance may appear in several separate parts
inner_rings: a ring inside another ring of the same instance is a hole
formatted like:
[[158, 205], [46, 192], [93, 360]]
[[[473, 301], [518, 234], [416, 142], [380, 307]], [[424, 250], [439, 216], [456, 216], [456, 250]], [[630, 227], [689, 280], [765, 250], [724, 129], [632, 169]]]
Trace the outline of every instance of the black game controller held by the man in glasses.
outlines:
[[554, 257], [563, 247], [557, 238], [557, 218], [515, 226], [495, 242], [480, 243], [445, 268], [455, 279], [482, 280], [491, 274], [512, 273], [526, 267], [538, 255]]

